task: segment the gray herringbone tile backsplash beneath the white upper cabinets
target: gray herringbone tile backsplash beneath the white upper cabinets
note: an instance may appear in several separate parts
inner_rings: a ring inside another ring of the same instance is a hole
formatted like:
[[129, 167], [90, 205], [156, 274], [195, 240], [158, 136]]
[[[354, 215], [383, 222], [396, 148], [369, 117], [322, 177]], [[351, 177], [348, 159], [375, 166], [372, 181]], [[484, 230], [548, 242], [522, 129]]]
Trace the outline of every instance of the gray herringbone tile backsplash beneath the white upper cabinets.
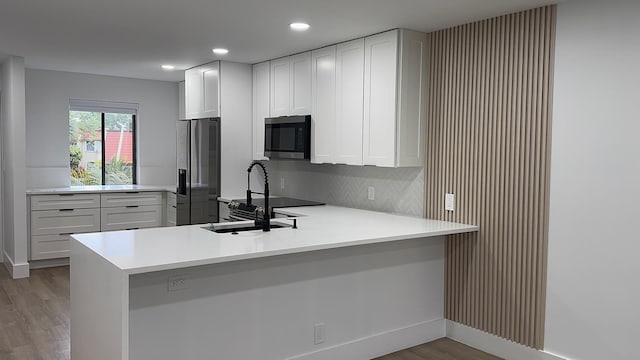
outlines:
[[[424, 216], [424, 171], [422, 168], [381, 168], [311, 164], [272, 160], [269, 170], [271, 193], [322, 201], [358, 209]], [[280, 188], [284, 178], [285, 188]], [[375, 188], [375, 200], [367, 188]]]

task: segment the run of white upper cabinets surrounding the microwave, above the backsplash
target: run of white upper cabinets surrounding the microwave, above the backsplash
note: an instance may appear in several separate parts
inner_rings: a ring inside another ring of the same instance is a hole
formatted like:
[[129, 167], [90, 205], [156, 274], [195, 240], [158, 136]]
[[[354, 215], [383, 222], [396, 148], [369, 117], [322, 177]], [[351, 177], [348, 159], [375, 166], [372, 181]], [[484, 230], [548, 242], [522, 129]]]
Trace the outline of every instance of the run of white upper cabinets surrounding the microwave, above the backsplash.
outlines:
[[396, 29], [254, 65], [254, 159], [264, 117], [311, 114], [312, 163], [424, 166], [428, 50]]

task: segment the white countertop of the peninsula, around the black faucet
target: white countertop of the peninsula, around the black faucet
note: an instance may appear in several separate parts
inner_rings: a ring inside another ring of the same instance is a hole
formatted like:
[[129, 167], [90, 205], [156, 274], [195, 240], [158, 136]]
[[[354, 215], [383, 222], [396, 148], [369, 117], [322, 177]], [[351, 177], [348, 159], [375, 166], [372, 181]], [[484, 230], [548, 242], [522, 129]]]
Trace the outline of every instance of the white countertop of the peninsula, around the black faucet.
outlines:
[[[279, 211], [278, 211], [279, 212]], [[298, 229], [221, 234], [206, 225], [72, 237], [128, 274], [477, 231], [473, 225], [330, 205], [288, 208]]]

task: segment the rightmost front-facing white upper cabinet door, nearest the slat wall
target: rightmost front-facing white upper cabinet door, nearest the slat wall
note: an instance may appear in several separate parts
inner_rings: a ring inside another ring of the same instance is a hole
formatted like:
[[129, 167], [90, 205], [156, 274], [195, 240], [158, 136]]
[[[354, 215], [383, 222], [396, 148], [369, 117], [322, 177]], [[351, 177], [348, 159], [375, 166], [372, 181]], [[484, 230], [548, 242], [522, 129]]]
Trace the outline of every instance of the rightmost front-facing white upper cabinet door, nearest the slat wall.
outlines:
[[398, 30], [364, 41], [364, 164], [395, 166]]

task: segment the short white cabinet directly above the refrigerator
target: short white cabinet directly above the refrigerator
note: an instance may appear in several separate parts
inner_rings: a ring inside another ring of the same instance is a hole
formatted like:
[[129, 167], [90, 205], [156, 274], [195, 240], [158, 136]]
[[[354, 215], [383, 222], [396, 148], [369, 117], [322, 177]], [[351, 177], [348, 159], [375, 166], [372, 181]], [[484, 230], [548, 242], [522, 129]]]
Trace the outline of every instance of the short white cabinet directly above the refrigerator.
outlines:
[[199, 119], [220, 116], [220, 62], [186, 70], [185, 117]]

